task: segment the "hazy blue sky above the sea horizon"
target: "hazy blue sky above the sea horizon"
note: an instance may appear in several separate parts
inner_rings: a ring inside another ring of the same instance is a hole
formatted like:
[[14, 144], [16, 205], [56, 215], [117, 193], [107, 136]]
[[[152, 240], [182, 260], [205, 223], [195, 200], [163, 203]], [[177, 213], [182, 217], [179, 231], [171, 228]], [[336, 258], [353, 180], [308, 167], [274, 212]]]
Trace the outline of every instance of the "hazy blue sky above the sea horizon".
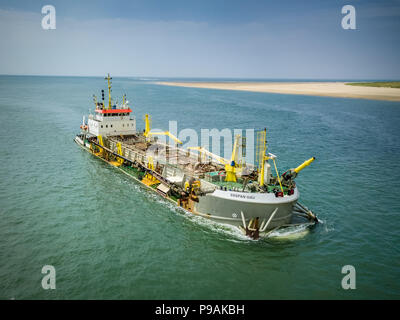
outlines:
[[400, 0], [0, 0], [0, 37], [0, 74], [400, 79]]

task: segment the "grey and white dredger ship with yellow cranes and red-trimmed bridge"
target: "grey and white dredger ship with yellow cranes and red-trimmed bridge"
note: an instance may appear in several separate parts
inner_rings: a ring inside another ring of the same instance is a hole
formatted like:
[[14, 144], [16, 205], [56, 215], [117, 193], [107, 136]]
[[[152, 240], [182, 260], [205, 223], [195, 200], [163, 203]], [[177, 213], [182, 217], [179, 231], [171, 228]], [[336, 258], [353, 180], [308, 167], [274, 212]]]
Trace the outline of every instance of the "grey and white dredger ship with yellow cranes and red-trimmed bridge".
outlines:
[[[81, 132], [75, 137], [86, 151], [184, 210], [236, 226], [254, 239], [293, 225], [294, 216], [306, 218], [310, 225], [318, 221], [298, 202], [294, 181], [314, 157], [279, 174], [276, 156], [266, 152], [266, 129], [256, 132], [255, 164], [245, 163], [246, 140], [240, 135], [234, 137], [230, 159], [203, 147], [184, 149], [171, 132], [152, 131], [147, 114], [144, 130], [138, 131], [126, 96], [122, 103], [113, 103], [111, 79], [109, 74], [105, 78], [108, 104], [104, 90], [100, 101], [94, 95], [94, 114], [87, 121], [83, 117]], [[159, 136], [168, 136], [170, 143]]]

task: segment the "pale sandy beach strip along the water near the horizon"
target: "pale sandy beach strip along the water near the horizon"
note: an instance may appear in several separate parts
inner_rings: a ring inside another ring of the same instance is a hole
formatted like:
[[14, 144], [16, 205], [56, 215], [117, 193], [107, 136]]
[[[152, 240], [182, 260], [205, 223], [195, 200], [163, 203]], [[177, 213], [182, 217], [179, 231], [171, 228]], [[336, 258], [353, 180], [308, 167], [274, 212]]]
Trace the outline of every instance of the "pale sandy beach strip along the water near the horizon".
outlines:
[[190, 88], [400, 101], [400, 89], [398, 88], [350, 86], [346, 83], [347, 82], [157, 82], [157, 84], [162, 85]]

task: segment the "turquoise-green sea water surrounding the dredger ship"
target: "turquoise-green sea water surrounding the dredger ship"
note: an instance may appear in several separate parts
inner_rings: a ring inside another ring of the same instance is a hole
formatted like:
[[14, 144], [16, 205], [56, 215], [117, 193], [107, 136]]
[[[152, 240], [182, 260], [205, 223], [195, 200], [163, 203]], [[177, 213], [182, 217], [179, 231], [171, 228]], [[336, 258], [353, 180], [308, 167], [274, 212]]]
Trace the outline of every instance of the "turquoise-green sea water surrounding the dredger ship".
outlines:
[[73, 142], [102, 78], [2, 76], [0, 298], [400, 298], [399, 103], [113, 85], [139, 128], [267, 127], [281, 170], [315, 156], [297, 183], [322, 223], [255, 242], [189, 217]]

